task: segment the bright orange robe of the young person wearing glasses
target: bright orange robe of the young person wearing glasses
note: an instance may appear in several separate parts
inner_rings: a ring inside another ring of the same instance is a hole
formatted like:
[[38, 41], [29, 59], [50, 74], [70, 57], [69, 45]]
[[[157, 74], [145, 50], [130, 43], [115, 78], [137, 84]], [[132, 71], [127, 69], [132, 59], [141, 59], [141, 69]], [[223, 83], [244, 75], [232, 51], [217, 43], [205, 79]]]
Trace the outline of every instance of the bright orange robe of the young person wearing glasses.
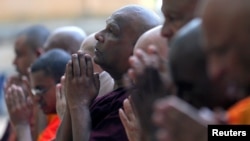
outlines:
[[57, 128], [60, 125], [60, 118], [58, 115], [48, 116], [48, 125], [46, 128], [39, 134], [37, 141], [52, 141], [56, 138]]

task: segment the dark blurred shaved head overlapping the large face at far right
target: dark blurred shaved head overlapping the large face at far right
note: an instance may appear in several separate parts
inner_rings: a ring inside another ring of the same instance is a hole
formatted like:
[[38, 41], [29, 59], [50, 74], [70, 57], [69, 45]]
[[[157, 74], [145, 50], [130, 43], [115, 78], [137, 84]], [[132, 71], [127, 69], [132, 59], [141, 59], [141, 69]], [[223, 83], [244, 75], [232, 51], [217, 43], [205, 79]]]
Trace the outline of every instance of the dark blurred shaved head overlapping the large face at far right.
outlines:
[[184, 26], [171, 43], [169, 61], [175, 78], [192, 80], [196, 72], [205, 66], [199, 35], [200, 22], [196, 19]]

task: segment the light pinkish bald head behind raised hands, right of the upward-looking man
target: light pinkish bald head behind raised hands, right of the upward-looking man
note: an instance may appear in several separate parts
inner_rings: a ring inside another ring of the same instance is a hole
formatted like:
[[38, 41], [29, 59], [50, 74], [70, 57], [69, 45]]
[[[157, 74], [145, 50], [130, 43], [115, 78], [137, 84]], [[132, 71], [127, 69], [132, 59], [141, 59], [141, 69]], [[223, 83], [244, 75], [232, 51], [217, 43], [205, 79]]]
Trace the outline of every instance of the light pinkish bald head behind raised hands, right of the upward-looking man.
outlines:
[[162, 25], [154, 27], [143, 33], [135, 44], [135, 49], [147, 50], [149, 45], [155, 45], [161, 57], [167, 58], [167, 39], [161, 36]]

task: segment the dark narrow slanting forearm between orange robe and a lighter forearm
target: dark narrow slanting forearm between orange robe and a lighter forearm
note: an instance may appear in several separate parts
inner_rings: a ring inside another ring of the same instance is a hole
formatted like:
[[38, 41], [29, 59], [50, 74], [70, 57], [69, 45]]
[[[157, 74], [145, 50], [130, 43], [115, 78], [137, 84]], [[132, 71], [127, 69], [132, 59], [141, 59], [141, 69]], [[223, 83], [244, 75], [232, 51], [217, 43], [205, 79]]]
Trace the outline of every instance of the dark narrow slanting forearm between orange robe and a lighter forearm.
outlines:
[[56, 141], [72, 141], [72, 132], [70, 112], [67, 109], [57, 130]]

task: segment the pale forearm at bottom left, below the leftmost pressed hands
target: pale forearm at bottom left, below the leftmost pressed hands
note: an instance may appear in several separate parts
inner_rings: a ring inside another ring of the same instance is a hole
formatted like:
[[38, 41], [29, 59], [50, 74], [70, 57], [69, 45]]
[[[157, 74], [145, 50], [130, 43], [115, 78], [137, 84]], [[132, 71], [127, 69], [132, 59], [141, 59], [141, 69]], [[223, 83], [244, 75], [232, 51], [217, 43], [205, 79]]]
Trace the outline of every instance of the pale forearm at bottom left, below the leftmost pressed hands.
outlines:
[[16, 125], [16, 134], [18, 141], [32, 141], [31, 130], [29, 124]]

